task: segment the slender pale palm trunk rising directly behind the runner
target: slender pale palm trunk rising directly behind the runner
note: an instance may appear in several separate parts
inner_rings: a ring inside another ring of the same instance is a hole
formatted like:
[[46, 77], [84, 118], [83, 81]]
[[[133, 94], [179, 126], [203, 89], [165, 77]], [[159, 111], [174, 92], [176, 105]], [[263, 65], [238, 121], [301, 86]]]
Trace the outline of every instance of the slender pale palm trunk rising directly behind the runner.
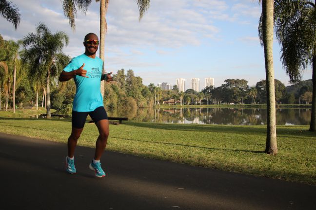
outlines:
[[[104, 70], [104, 42], [105, 42], [105, 32], [106, 32], [106, 8], [107, 8], [107, 3], [106, 0], [101, 0], [100, 1], [100, 59], [103, 61], [103, 68], [102, 68], [102, 74], [105, 73]], [[100, 91], [102, 94], [102, 98], [104, 97], [104, 81], [101, 81], [101, 87]]]

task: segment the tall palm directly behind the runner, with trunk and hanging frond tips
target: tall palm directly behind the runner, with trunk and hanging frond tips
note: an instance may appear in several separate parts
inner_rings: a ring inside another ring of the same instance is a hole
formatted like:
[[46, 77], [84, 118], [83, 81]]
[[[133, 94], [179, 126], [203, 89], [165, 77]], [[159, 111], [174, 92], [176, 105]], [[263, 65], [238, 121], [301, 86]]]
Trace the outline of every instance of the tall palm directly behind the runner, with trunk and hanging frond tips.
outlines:
[[[62, 9], [65, 16], [69, 20], [70, 27], [75, 30], [75, 18], [77, 16], [77, 9], [79, 8], [84, 14], [88, 10], [89, 5], [92, 0], [62, 0]], [[104, 61], [104, 43], [105, 43], [105, 34], [107, 31], [107, 22], [106, 22], [106, 12], [108, 10], [109, 0], [96, 0], [100, 1], [100, 58]], [[136, 0], [138, 9], [139, 9], [139, 21], [143, 17], [146, 10], [149, 8], [150, 0]], [[103, 70], [104, 72], [104, 65]], [[104, 94], [104, 82], [101, 83], [101, 94]]]

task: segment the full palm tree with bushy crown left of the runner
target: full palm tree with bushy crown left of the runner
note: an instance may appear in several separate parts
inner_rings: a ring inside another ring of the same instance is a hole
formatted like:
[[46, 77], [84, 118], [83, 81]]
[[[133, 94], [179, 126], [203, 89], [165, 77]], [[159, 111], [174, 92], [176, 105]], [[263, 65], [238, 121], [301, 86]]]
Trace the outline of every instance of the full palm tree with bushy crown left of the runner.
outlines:
[[24, 59], [31, 64], [30, 73], [35, 78], [46, 80], [46, 114], [50, 118], [50, 82], [69, 61], [68, 56], [62, 53], [64, 45], [68, 45], [69, 37], [61, 31], [52, 34], [44, 23], [40, 23], [36, 31], [36, 34], [29, 33], [23, 38]]

